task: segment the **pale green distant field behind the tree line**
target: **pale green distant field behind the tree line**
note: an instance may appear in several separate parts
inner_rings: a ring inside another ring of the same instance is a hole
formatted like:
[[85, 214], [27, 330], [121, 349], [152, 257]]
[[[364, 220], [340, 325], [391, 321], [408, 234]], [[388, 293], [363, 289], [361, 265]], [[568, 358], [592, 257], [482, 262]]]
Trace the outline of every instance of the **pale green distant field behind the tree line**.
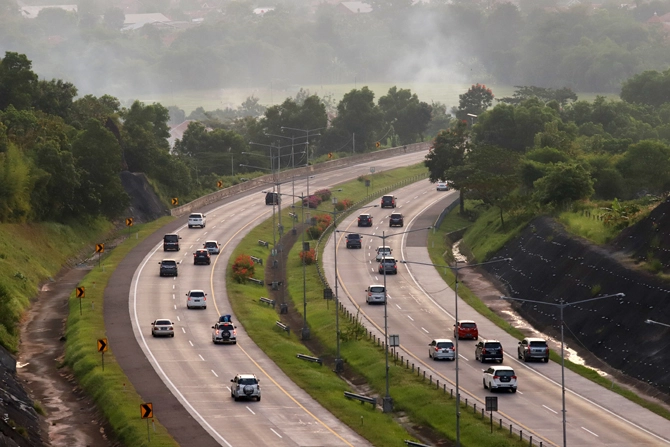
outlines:
[[[312, 94], [317, 94], [320, 97], [331, 95], [337, 102], [339, 102], [345, 93], [360, 89], [367, 86], [375, 92], [375, 99], [384, 96], [388, 93], [389, 88], [396, 86], [398, 88], [410, 89], [412, 93], [416, 93], [421, 101], [431, 103], [432, 101], [441, 102], [447, 105], [450, 109], [453, 106], [458, 106], [458, 95], [465, 93], [471, 84], [441, 84], [441, 83], [407, 83], [407, 84], [393, 84], [393, 83], [377, 83], [377, 84], [330, 84], [330, 85], [304, 85], [303, 89], [309, 90]], [[511, 85], [488, 85], [496, 98], [503, 98], [512, 96], [514, 87]], [[145, 104], [159, 102], [165, 107], [176, 105], [183, 109], [186, 114], [191, 113], [198, 107], [205, 110], [224, 109], [226, 107], [237, 108], [244, 100], [250, 96], [255, 96], [259, 102], [265, 106], [277, 105], [284, 102], [286, 98], [294, 98], [301, 86], [292, 86], [287, 89], [276, 88], [231, 88], [231, 89], [215, 89], [215, 90], [180, 90], [171, 93], [164, 93], [159, 95], [138, 96], [136, 98], [121, 98], [124, 103], [139, 99]], [[580, 99], [592, 101], [595, 93], [578, 93]], [[611, 98], [617, 98], [617, 95], [606, 95]], [[495, 105], [495, 102], [494, 102]]]

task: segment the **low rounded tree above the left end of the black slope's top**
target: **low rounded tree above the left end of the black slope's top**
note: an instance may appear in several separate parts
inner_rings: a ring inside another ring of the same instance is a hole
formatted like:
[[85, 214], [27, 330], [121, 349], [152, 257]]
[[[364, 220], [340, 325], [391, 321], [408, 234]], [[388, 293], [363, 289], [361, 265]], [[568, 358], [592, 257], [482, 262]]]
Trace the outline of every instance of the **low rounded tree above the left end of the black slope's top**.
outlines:
[[535, 199], [543, 205], [562, 206], [591, 197], [593, 180], [584, 167], [576, 163], [557, 163], [535, 181]]

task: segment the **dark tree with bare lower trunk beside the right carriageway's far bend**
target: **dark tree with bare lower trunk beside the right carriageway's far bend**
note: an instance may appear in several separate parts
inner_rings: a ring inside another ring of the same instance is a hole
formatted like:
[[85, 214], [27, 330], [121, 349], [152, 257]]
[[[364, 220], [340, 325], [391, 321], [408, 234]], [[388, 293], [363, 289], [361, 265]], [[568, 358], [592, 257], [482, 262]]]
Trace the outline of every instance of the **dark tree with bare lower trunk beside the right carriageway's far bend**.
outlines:
[[461, 175], [464, 173], [458, 168], [465, 164], [465, 154], [468, 150], [470, 150], [468, 125], [459, 121], [453, 128], [442, 130], [437, 134], [424, 161], [431, 182], [444, 182], [448, 179], [453, 187], [459, 190], [461, 214], [465, 213], [463, 183], [467, 181], [467, 175]]

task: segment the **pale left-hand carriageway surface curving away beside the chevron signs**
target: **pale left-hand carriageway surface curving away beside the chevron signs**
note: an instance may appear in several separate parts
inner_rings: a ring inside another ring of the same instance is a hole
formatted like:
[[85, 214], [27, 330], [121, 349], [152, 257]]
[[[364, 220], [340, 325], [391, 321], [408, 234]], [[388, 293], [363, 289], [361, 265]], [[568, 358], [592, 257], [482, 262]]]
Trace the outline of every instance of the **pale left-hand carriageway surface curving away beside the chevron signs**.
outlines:
[[[311, 178], [310, 191], [368, 173], [370, 166], [379, 172], [416, 163], [424, 156], [409, 154], [331, 171]], [[296, 180], [296, 191], [305, 188], [304, 180]], [[232, 313], [225, 295], [230, 252], [253, 226], [272, 216], [272, 207], [265, 206], [264, 197], [256, 192], [206, 214], [206, 228], [178, 229], [181, 251], [163, 252], [160, 244], [155, 245], [140, 262], [130, 287], [133, 333], [160, 380], [220, 445], [369, 445], [293, 384], [253, 344], [235, 316], [237, 345], [211, 342], [211, 326], [218, 316]], [[271, 240], [271, 235], [268, 238]], [[222, 244], [221, 254], [212, 256], [211, 266], [193, 265], [193, 251], [211, 239]], [[163, 258], [182, 261], [178, 277], [159, 277], [158, 262]], [[205, 290], [207, 309], [186, 308], [185, 294], [190, 289]], [[263, 290], [258, 288], [258, 296]], [[174, 338], [151, 337], [150, 323], [156, 318], [170, 318], [175, 323]], [[235, 402], [230, 397], [230, 379], [237, 373], [254, 373], [260, 378], [260, 402]]]

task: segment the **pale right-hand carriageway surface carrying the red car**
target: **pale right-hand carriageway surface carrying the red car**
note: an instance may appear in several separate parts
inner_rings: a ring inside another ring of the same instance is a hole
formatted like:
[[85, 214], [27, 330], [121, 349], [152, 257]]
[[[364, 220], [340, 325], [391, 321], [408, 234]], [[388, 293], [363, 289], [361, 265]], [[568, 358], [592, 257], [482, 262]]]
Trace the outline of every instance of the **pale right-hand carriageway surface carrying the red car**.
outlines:
[[[400, 204], [396, 210], [405, 215], [404, 228], [389, 229], [388, 215], [391, 210], [373, 209], [374, 227], [358, 228], [352, 219], [340, 224], [340, 229], [348, 228], [351, 232], [381, 236], [382, 231], [388, 235], [425, 227], [455, 198], [455, 194], [436, 193], [433, 185], [419, 182], [396, 192]], [[437, 205], [431, 208], [436, 202]], [[431, 219], [419, 216], [429, 208], [427, 214], [433, 213]], [[420, 222], [415, 222], [415, 218]], [[429, 262], [425, 236], [420, 232], [408, 236], [387, 239], [387, 245], [392, 247], [395, 258]], [[346, 250], [341, 244], [342, 248], [338, 248], [338, 277], [341, 301], [351, 309], [360, 306], [366, 317], [383, 333], [383, 306], [366, 305], [363, 292], [369, 284], [383, 284], [383, 277], [378, 274], [374, 261], [374, 249], [378, 245], [381, 245], [378, 237], [365, 237], [362, 250]], [[326, 274], [331, 283], [334, 278], [332, 251], [332, 245], [329, 245], [324, 256]], [[400, 335], [402, 349], [413, 357], [410, 362], [419, 363], [422, 369], [432, 369], [434, 378], [438, 377], [441, 381], [448, 379], [453, 384], [455, 363], [429, 360], [428, 343], [434, 338], [453, 339], [454, 292], [440, 279], [433, 267], [399, 264], [398, 271], [398, 275], [386, 278], [389, 334]], [[555, 445], [562, 445], [560, 365], [553, 362], [519, 362], [516, 359], [517, 340], [460, 301], [459, 318], [477, 321], [480, 337], [500, 340], [506, 353], [504, 363], [513, 366], [519, 377], [519, 391], [516, 394], [496, 393], [501, 413], [515, 421], [525, 433], [529, 429], [536, 433], [535, 439], [540, 435]], [[484, 397], [490, 395], [482, 386], [482, 369], [486, 364], [474, 360], [474, 346], [474, 341], [461, 340], [459, 343], [460, 386], [463, 393], [476, 396], [483, 404]], [[666, 420], [567, 370], [566, 386], [570, 389], [566, 393], [570, 446], [670, 445], [670, 424]]]

